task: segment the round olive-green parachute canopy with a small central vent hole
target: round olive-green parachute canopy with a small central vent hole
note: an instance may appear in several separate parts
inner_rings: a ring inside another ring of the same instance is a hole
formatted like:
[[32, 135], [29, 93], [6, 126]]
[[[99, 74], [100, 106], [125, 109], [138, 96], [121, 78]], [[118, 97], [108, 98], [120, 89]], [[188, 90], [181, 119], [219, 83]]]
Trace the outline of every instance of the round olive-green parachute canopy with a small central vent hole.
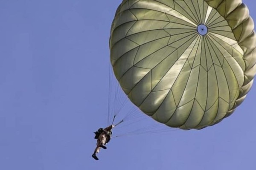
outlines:
[[131, 102], [184, 130], [230, 116], [256, 74], [254, 23], [241, 0], [123, 0], [109, 46]]

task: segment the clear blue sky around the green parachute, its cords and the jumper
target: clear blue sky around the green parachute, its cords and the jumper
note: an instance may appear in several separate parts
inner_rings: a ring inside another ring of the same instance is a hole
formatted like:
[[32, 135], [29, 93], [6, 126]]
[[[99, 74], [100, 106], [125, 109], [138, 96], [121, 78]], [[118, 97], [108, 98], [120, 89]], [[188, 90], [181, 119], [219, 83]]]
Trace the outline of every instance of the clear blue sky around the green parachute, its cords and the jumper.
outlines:
[[114, 138], [92, 159], [119, 3], [0, 1], [0, 170], [255, 170], [256, 83], [218, 125]]

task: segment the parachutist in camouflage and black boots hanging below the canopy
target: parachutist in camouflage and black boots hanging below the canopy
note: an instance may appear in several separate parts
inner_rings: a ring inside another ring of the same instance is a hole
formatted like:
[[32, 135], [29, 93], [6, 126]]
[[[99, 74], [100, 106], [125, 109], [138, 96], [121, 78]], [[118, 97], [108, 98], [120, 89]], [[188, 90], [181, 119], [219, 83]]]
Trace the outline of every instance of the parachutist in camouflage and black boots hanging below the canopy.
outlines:
[[99, 160], [99, 158], [96, 156], [96, 154], [99, 153], [99, 150], [101, 148], [107, 149], [105, 144], [107, 144], [110, 141], [111, 135], [112, 135], [111, 129], [113, 129], [114, 127], [115, 127], [115, 125], [110, 125], [109, 127], [106, 127], [105, 129], [99, 128], [99, 130], [97, 132], [94, 132], [95, 133], [94, 139], [97, 139], [97, 144], [96, 144], [96, 148], [94, 150], [92, 157], [95, 160]]

